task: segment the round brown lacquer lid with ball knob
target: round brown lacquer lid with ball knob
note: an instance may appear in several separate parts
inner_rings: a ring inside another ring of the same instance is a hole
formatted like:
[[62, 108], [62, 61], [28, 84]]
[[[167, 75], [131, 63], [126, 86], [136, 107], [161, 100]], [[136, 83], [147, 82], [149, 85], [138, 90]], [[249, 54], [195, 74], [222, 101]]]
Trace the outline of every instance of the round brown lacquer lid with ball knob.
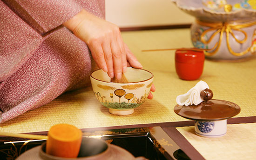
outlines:
[[231, 118], [240, 112], [240, 107], [229, 101], [211, 99], [213, 93], [209, 89], [202, 90], [205, 101], [198, 105], [176, 105], [174, 112], [184, 118], [199, 121], [217, 121]]

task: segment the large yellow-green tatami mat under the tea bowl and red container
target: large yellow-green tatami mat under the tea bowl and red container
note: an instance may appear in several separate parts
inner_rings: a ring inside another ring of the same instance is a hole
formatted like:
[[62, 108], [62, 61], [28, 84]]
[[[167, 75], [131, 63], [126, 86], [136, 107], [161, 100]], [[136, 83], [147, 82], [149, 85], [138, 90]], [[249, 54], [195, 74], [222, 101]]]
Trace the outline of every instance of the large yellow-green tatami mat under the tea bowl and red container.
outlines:
[[0, 130], [14, 133], [47, 131], [58, 123], [96, 128], [185, 121], [173, 111], [176, 96], [186, 93], [199, 80], [209, 84], [215, 99], [238, 104], [241, 113], [236, 117], [256, 116], [256, 58], [239, 63], [206, 60], [200, 79], [184, 81], [176, 75], [174, 51], [141, 50], [191, 47], [189, 29], [122, 32], [122, 36], [144, 68], [155, 76], [153, 100], [144, 102], [132, 115], [111, 115], [89, 87], [65, 93], [45, 106], [0, 124]]

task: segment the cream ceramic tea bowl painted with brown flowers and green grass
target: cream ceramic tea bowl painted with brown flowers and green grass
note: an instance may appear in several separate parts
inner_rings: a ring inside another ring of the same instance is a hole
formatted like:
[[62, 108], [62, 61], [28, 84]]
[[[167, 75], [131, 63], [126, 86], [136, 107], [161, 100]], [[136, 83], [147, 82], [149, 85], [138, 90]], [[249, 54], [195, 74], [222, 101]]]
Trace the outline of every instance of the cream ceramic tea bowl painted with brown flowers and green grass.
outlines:
[[91, 83], [97, 100], [114, 115], [129, 115], [146, 101], [153, 83], [148, 70], [128, 67], [124, 73], [129, 83], [110, 82], [103, 70], [91, 73]]

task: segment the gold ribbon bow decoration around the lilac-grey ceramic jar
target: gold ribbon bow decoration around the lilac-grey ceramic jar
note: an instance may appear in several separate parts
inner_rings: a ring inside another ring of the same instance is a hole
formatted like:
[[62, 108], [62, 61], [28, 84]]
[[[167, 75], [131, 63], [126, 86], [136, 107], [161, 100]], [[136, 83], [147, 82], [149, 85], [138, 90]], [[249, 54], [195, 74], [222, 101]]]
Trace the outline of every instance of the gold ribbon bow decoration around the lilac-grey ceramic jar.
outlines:
[[[208, 27], [210, 27], [209, 29], [207, 29], [204, 32], [202, 32], [201, 41], [204, 44], [209, 44], [212, 41], [212, 39], [216, 36], [216, 34], [220, 33], [219, 40], [216, 42], [215, 46], [211, 49], [211, 50], [214, 50], [214, 51], [212, 51], [212, 52], [205, 51], [205, 55], [207, 55], [207, 56], [212, 56], [212, 55], [214, 55], [219, 50], [219, 47], [221, 45], [224, 32], [226, 32], [227, 46], [228, 46], [229, 52], [231, 54], [233, 54], [235, 56], [243, 56], [251, 48], [251, 46], [249, 46], [245, 51], [240, 52], [240, 53], [237, 53], [237, 52], [233, 51], [231, 49], [230, 45], [229, 45], [229, 33], [232, 35], [233, 38], [235, 38], [236, 42], [238, 42], [240, 44], [243, 44], [247, 40], [247, 33], [245, 31], [243, 31], [241, 28], [245, 28], [245, 27], [249, 27], [249, 26], [254, 26], [254, 25], [256, 25], [256, 22], [250, 22], [250, 23], [244, 23], [244, 24], [234, 24], [234, 23], [228, 23], [228, 22], [224, 22], [224, 23], [222, 23], [222, 22], [219, 22], [219, 23], [208, 23], [208, 22], [202, 22], [202, 21], [196, 19], [196, 23], [201, 25], [201, 26], [208, 26]], [[205, 36], [205, 34], [207, 34], [210, 31], [214, 31], [214, 30], [216, 30], [216, 32], [214, 32], [207, 41], [204, 40], [203, 37]], [[237, 39], [236, 36], [234, 35], [234, 32], [232, 30], [235, 30], [235, 31], [238, 31], [238, 32], [242, 32], [243, 35], [244, 35], [244, 38], [242, 40]]]

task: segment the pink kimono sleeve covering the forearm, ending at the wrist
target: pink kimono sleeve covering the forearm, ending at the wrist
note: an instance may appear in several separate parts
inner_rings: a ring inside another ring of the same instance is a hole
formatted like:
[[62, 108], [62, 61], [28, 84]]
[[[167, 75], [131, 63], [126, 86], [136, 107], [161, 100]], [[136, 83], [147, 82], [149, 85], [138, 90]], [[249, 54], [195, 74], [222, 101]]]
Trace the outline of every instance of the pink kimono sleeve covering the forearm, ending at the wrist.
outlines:
[[74, 0], [2, 0], [27, 24], [44, 35], [82, 10]]

